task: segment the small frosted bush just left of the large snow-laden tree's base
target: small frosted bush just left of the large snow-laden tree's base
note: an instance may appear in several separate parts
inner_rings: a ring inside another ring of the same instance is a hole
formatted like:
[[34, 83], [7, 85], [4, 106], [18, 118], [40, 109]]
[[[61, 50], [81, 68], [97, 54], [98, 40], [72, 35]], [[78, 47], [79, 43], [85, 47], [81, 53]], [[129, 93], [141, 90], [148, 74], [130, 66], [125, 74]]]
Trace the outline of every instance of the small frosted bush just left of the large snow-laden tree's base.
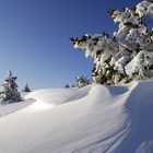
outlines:
[[83, 75], [76, 76], [76, 78], [75, 78], [75, 81], [76, 81], [75, 86], [78, 86], [78, 87], [83, 87], [83, 86], [90, 84], [90, 80], [86, 79], [86, 78], [83, 76]]

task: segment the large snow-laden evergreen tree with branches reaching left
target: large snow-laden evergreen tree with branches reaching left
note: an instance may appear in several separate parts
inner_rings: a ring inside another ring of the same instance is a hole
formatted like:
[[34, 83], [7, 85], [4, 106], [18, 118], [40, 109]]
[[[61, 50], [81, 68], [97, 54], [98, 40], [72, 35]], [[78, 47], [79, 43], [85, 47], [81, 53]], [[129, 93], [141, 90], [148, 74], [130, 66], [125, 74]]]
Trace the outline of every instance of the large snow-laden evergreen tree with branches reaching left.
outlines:
[[133, 9], [109, 10], [118, 23], [113, 35], [86, 34], [72, 37], [74, 48], [84, 50], [94, 60], [92, 81], [121, 84], [153, 76], [153, 27], [145, 21], [153, 17], [153, 2], [142, 1]]

